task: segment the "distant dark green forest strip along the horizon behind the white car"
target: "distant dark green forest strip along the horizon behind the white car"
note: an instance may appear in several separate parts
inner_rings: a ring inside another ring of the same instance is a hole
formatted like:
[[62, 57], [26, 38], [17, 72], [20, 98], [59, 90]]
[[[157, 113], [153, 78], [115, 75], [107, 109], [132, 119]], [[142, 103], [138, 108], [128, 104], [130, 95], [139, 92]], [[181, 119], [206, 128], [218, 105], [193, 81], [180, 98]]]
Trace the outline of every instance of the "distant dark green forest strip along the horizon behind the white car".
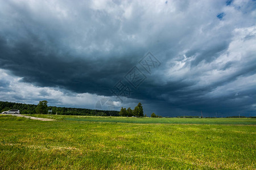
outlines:
[[[35, 104], [13, 103], [9, 101], [0, 101], [0, 111], [9, 111], [11, 109], [18, 109], [21, 114], [36, 114]], [[94, 109], [81, 108], [65, 108], [65, 107], [48, 107], [52, 114], [62, 115], [81, 115], [81, 116], [119, 116], [119, 111], [100, 111]]]

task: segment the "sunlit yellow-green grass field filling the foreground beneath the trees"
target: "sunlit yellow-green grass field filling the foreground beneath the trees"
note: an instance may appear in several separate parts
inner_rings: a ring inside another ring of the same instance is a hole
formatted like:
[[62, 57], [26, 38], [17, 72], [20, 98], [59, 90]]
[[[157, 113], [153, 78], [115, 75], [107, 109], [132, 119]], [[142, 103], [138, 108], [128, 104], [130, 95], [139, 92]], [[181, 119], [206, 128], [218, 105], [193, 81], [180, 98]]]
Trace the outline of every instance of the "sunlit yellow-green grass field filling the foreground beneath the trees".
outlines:
[[0, 169], [256, 169], [253, 118], [0, 115]]

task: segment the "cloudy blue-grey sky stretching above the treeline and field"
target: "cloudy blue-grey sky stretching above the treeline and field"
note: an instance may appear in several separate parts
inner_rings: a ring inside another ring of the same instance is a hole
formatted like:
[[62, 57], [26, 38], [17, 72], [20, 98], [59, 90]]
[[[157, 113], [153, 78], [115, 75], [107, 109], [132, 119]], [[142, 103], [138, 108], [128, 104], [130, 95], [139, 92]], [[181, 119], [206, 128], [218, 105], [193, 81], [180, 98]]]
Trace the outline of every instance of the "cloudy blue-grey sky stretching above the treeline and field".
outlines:
[[256, 1], [0, 0], [0, 100], [256, 116]]

